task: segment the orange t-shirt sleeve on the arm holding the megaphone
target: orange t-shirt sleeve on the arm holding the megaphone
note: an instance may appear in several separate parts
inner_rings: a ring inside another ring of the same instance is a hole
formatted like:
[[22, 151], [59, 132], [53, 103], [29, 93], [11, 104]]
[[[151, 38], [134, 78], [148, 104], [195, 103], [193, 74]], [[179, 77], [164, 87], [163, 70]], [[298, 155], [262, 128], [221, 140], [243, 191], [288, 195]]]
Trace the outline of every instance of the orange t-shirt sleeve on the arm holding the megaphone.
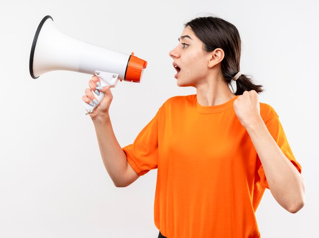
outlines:
[[158, 162], [158, 116], [141, 130], [133, 144], [123, 147], [127, 161], [138, 175], [144, 175], [157, 168]]

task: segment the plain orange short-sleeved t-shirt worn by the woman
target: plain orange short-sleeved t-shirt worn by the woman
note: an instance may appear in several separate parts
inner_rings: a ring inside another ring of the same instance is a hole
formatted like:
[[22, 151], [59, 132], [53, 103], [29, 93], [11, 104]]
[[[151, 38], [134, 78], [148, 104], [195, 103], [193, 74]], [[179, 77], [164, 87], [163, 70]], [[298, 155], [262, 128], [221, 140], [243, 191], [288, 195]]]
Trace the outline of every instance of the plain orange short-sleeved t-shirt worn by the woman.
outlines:
[[[154, 222], [164, 236], [260, 237], [255, 211], [269, 187], [233, 109], [237, 97], [208, 107], [196, 95], [172, 97], [134, 143], [123, 147], [139, 175], [157, 168]], [[301, 173], [275, 110], [260, 102], [260, 115]]]

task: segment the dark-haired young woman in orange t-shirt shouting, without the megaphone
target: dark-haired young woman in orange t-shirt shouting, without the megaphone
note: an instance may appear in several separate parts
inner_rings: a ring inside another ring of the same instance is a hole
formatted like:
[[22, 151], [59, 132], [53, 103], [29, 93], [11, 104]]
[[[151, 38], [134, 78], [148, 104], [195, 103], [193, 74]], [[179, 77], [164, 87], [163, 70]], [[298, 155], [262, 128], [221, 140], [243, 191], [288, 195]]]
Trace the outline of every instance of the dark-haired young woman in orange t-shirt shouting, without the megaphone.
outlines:
[[[158, 237], [260, 237], [255, 211], [265, 188], [290, 213], [304, 205], [301, 166], [279, 116], [258, 100], [261, 85], [240, 71], [241, 39], [218, 17], [185, 24], [169, 52], [180, 87], [197, 93], [169, 98], [133, 144], [121, 148], [109, 116], [112, 93], [90, 114], [105, 168], [126, 187], [157, 168], [154, 222]], [[229, 84], [236, 81], [236, 92]]]

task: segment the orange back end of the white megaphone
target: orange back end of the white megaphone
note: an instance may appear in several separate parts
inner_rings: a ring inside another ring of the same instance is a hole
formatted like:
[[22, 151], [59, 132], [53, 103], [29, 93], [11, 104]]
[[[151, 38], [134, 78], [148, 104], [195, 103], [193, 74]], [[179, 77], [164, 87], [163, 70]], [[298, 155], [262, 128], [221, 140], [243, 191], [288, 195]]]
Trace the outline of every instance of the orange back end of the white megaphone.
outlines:
[[124, 81], [140, 83], [143, 69], [146, 68], [147, 62], [134, 56], [132, 52], [126, 68]]

